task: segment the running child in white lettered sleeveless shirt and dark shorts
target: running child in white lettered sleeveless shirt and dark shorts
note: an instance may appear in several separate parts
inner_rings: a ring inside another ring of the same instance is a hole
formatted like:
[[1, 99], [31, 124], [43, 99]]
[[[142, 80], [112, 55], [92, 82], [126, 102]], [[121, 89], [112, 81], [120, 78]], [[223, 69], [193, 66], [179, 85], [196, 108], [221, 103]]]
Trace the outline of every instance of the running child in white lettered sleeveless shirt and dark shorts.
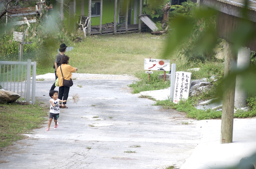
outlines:
[[57, 119], [59, 118], [59, 102], [66, 102], [66, 100], [60, 100], [58, 99], [58, 91], [56, 90], [52, 90], [49, 93], [50, 97], [52, 97], [52, 99], [49, 100], [49, 102], [51, 103], [50, 106], [50, 114], [49, 114], [49, 122], [48, 122], [48, 128], [46, 129], [46, 131], [50, 130], [50, 124], [52, 123], [52, 119], [54, 118], [54, 129], [58, 128], [59, 123], [57, 122]]

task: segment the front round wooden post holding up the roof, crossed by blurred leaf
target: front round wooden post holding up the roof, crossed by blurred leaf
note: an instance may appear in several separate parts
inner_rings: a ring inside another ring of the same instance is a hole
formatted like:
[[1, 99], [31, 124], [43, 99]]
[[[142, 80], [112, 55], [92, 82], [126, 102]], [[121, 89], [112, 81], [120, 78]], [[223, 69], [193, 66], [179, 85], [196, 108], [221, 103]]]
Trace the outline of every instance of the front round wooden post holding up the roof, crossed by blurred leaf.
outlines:
[[[236, 52], [234, 51], [233, 44], [226, 41], [224, 76], [228, 76], [234, 68], [236, 68]], [[222, 144], [231, 143], [233, 141], [234, 102], [235, 78], [229, 81], [229, 84], [224, 84], [220, 136], [220, 143]]]

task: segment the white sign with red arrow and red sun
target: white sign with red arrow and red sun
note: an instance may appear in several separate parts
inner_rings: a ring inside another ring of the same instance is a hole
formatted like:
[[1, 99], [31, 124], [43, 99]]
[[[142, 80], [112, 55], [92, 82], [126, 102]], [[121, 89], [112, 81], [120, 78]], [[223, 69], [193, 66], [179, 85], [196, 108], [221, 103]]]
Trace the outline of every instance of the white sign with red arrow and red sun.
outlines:
[[144, 59], [144, 70], [170, 71], [170, 60]]

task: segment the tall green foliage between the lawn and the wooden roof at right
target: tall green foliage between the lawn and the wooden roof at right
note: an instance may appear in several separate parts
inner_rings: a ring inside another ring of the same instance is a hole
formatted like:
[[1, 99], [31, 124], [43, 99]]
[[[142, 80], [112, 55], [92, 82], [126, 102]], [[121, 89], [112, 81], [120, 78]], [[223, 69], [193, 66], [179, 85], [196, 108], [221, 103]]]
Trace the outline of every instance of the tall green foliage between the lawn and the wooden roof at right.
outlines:
[[[178, 58], [185, 58], [187, 61], [212, 61], [215, 57], [213, 46], [217, 44], [215, 31], [215, 15], [208, 17], [198, 16], [197, 4], [187, 1], [181, 5], [173, 5], [173, 11], [170, 12], [170, 20], [174, 29], [171, 36], [177, 39], [170, 39], [172, 42], [178, 40], [181, 36], [176, 50]], [[214, 13], [211, 13], [214, 14]], [[174, 26], [177, 26], [178, 29]], [[182, 28], [180, 28], [182, 27]], [[170, 41], [169, 41], [170, 42]]]

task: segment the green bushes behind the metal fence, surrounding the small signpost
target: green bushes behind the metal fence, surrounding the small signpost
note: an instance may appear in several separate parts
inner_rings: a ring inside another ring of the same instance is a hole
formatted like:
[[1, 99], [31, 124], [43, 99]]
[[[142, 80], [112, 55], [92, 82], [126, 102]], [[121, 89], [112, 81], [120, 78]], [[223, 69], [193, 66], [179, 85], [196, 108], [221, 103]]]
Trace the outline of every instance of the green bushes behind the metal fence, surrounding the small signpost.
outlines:
[[[11, 21], [10, 21], [11, 23]], [[37, 18], [36, 23], [15, 26], [4, 34], [0, 35], [0, 60], [18, 61], [18, 44], [13, 41], [13, 31], [26, 32], [25, 41], [32, 41], [32, 44], [23, 45], [23, 61], [31, 59], [37, 62], [37, 74], [40, 72], [52, 71], [57, 49], [61, 43], [71, 46], [76, 36], [83, 37], [79, 31], [71, 31], [63, 25], [59, 19], [52, 21], [42, 16]]]

